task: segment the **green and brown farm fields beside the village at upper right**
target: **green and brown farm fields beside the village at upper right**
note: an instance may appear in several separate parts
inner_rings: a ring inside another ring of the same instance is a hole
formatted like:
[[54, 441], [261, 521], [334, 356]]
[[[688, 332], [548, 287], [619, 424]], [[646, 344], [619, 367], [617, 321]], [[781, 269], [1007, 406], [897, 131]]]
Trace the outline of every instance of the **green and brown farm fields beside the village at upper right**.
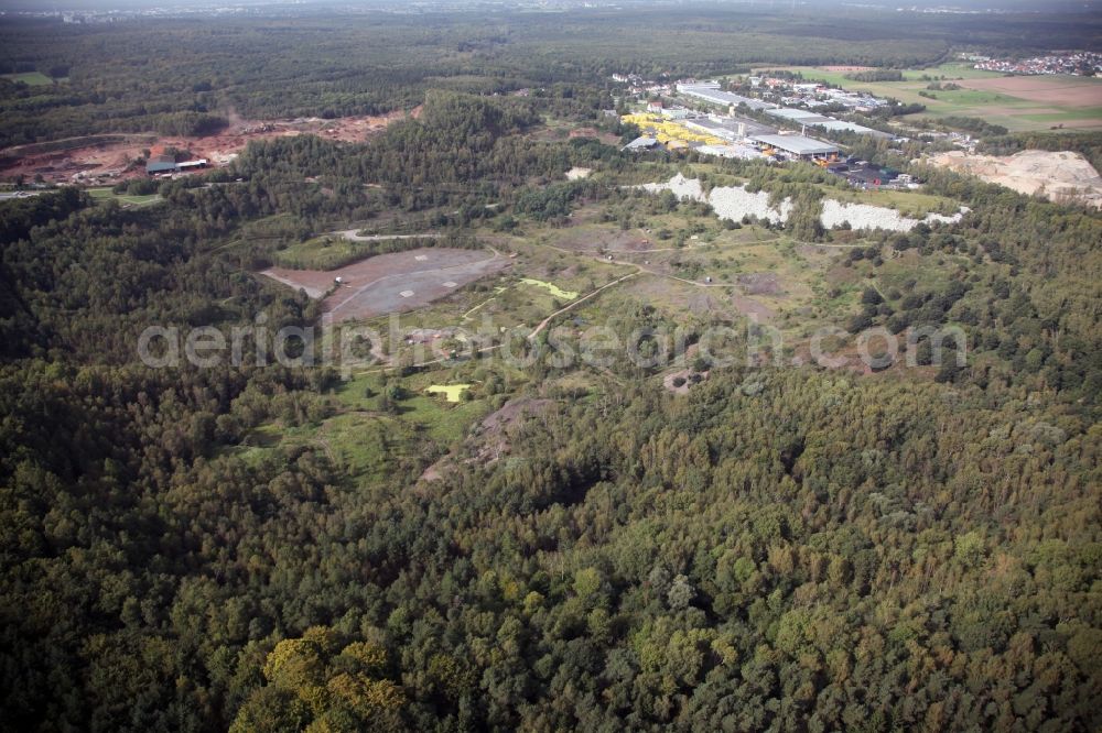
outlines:
[[[775, 67], [776, 68], [776, 67]], [[764, 70], [764, 69], [763, 69]], [[926, 112], [900, 118], [977, 117], [1012, 132], [1051, 128], [1102, 128], [1102, 80], [1074, 76], [1015, 76], [943, 64], [928, 69], [907, 69], [903, 81], [854, 81], [844, 72], [812, 66], [789, 66], [806, 78], [835, 84], [845, 89], [893, 97], [906, 103], [926, 105]], [[930, 90], [932, 83], [952, 81], [962, 89]], [[925, 97], [919, 92], [931, 97]]]

